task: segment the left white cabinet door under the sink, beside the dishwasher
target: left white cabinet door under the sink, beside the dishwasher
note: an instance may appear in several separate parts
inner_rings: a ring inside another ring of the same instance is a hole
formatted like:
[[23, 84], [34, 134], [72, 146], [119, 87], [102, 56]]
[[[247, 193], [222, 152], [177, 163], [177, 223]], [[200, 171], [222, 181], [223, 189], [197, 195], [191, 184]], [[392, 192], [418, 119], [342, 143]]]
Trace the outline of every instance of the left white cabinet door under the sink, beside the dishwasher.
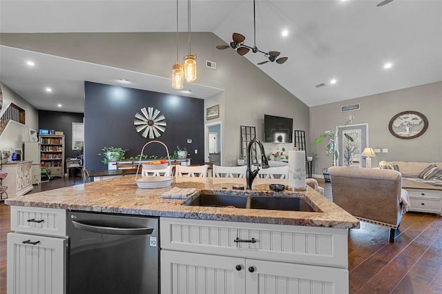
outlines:
[[244, 294], [244, 261], [239, 257], [162, 250], [161, 293]]

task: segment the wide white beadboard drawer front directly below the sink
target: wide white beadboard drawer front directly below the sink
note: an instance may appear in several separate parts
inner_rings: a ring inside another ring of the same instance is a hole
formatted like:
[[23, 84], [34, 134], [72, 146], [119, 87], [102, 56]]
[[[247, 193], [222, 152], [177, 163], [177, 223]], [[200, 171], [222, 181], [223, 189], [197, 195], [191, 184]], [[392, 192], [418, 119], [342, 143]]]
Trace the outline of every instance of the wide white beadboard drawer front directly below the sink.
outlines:
[[[345, 228], [162, 217], [160, 231], [161, 247], [165, 249], [339, 268], [348, 266]], [[252, 238], [254, 242], [244, 242]]]

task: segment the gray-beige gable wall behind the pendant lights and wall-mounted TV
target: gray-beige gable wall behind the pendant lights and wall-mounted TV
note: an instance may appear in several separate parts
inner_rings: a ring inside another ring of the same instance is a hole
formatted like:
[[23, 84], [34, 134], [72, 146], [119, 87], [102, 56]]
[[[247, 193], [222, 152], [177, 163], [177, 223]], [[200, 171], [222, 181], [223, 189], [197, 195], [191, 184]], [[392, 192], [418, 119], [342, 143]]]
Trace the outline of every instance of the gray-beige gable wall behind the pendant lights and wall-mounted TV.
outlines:
[[[180, 44], [186, 44], [187, 35], [182, 33], [179, 39]], [[175, 33], [1, 34], [1, 43], [168, 78], [176, 59]], [[291, 117], [295, 130], [308, 130], [309, 108], [234, 50], [215, 48], [222, 43], [211, 32], [192, 32], [192, 51], [198, 56], [196, 83], [224, 89], [221, 94], [206, 99], [204, 107], [220, 104], [222, 164], [235, 165], [240, 157], [241, 125], [256, 126], [262, 139], [264, 115], [268, 114]], [[180, 46], [180, 56], [186, 50], [186, 46]], [[215, 61], [217, 70], [206, 68], [206, 60]], [[290, 63], [265, 66], [287, 68]], [[266, 151], [270, 153], [270, 149], [280, 147], [271, 144]]]

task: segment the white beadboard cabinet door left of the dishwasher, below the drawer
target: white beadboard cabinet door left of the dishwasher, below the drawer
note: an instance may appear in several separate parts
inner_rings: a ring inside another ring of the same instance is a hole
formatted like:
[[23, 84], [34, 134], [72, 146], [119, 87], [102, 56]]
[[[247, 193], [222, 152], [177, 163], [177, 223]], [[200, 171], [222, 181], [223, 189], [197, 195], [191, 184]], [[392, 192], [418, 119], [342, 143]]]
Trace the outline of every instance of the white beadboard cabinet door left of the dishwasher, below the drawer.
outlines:
[[65, 243], [62, 238], [9, 233], [8, 294], [66, 293]]

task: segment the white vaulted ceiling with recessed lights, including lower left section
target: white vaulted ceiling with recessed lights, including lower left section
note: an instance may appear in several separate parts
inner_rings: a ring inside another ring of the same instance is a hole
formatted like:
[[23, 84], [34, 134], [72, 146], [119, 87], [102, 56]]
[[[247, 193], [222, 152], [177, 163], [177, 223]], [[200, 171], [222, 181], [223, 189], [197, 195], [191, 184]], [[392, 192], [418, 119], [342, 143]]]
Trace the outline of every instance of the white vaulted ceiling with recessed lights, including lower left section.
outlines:
[[[307, 106], [442, 81], [442, 1], [394, 0], [377, 7], [379, 2], [257, 0], [256, 45], [289, 57], [281, 65], [256, 65], [257, 70]], [[174, 0], [0, 0], [0, 32], [175, 32], [175, 7]], [[183, 32], [186, 7], [187, 1], [179, 0]], [[192, 0], [191, 29], [213, 32], [226, 43], [233, 32], [240, 32], [253, 46], [253, 1]], [[283, 30], [287, 37], [282, 37]], [[60, 77], [66, 66], [69, 74], [58, 87], [66, 92], [59, 96], [66, 97], [61, 102], [64, 111], [72, 112], [83, 111], [82, 81], [106, 83], [122, 70], [35, 52], [35, 58], [45, 59], [50, 67], [36, 75], [17, 66], [24, 62], [25, 52], [1, 46], [0, 80], [42, 110], [59, 110], [42, 103], [46, 93], [40, 89], [45, 80]], [[252, 52], [244, 58], [255, 64], [265, 60]], [[383, 68], [385, 63], [392, 67]], [[168, 78], [149, 77], [157, 88], [146, 89], [170, 92]], [[204, 98], [218, 90], [195, 85], [193, 94]]]

